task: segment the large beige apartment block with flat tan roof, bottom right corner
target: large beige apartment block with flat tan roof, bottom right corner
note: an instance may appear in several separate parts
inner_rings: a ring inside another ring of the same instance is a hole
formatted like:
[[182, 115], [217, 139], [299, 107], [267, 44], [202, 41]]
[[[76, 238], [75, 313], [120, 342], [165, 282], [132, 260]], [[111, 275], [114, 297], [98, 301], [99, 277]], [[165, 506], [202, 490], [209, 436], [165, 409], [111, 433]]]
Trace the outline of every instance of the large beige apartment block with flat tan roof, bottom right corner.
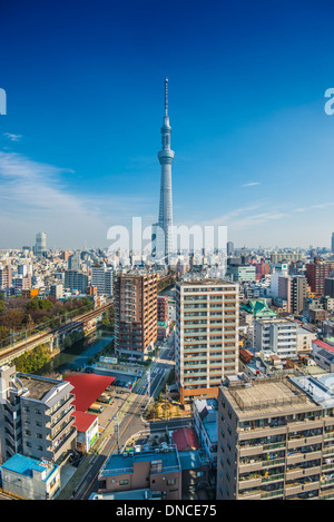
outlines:
[[217, 500], [334, 499], [334, 402], [326, 378], [220, 387]]

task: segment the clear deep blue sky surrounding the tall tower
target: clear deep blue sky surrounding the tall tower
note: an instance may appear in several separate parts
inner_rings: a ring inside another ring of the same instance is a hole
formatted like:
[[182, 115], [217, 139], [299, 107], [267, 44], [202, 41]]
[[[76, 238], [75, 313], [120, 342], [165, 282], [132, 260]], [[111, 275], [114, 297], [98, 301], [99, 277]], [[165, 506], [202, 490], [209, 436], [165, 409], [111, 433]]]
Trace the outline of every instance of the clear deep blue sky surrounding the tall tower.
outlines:
[[330, 246], [330, 0], [1, 2], [0, 247], [108, 246], [157, 219], [164, 78], [176, 224]]

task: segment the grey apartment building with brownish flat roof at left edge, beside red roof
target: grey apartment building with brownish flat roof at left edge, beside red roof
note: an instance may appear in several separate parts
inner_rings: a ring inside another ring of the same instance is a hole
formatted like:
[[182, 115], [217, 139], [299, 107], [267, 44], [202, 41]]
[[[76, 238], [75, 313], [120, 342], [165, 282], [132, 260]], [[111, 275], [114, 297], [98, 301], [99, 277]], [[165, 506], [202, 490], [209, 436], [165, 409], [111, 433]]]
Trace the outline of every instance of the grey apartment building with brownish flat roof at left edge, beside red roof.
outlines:
[[0, 367], [0, 460], [16, 453], [56, 462], [75, 449], [72, 385]]

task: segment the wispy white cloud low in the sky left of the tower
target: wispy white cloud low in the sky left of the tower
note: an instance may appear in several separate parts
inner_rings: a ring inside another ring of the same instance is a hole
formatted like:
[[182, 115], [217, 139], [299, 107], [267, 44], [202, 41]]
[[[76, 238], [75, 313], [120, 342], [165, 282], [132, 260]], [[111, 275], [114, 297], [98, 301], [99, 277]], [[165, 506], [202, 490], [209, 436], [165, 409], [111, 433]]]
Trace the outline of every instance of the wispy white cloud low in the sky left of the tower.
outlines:
[[32, 245], [40, 229], [47, 233], [49, 247], [80, 248], [85, 242], [88, 247], [105, 247], [110, 226], [130, 227], [143, 208], [147, 215], [155, 213], [156, 201], [140, 195], [73, 194], [66, 183], [70, 173], [0, 151], [0, 248]]

